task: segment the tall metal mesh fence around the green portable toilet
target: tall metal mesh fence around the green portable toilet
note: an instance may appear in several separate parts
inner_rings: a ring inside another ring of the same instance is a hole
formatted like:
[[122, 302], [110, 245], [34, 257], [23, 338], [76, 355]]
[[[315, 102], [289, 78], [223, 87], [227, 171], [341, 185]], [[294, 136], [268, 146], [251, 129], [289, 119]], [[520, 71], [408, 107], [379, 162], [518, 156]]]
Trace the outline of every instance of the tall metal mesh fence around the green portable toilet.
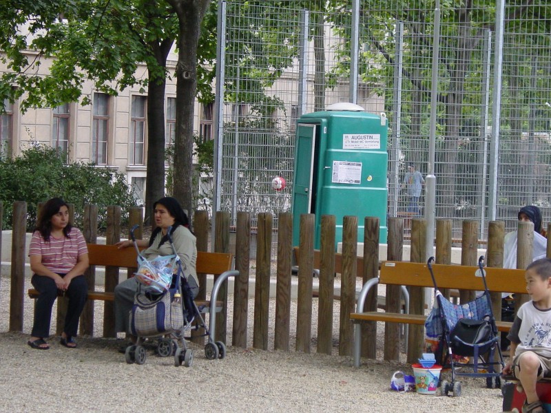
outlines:
[[[407, 166], [422, 176], [428, 171], [435, 4], [280, 3], [220, 3], [220, 209], [233, 220], [241, 210], [253, 217], [288, 211], [296, 120], [353, 101], [386, 113], [388, 213], [400, 215], [408, 209]], [[503, 13], [495, 3], [477, 7], [454, 1], [441, 8], [436, 215], [454, 220], [455, 235], [461, 220], [479, 220], [485, 238], [493, 211], [507, 231], [525, 204], [541, 207], [544, 222], [551, 218], [551, 5], [509, 2]], [[495, 148], [492, 136], [499, 138]], [[271, 187], [275, 176], [287, 180], [282, 191]], [[492, 205], [488, 193], [496, 185]], [[419, 206], [422, 214], [424, 196]]]

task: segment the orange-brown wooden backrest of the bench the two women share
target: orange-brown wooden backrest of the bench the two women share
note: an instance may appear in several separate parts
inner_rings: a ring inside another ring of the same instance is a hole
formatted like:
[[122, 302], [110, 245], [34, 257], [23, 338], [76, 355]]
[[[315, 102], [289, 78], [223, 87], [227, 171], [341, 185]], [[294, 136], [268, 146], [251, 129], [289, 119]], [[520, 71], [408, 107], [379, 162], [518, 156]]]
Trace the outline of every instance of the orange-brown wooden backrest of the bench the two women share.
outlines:
[[[114, 245], [87, 244], [90, 265], [136, 267], [136, 248], [117, 248]], [[226, 253], [197, 253], [196, 271], [198, 274], [220, 275], [231, 270], [233, 259]]]

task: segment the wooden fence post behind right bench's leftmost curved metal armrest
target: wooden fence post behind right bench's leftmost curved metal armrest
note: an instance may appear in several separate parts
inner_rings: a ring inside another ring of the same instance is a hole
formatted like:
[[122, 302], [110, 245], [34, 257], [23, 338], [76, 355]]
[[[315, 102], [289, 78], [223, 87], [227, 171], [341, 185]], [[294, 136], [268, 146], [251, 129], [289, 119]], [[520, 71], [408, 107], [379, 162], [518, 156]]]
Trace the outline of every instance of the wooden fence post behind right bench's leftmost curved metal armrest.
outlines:
[[[379, 226], [377, 217], [364, 219], [364, 271], [362, 281], [379, 275]], [[377, 311], [377, 288], [371, 288], [366, 297], [364, 311]], [[360, 324], [362, 328], [362, 356], [368, 359], [377, 357], [377, 321], [367, 321]]]

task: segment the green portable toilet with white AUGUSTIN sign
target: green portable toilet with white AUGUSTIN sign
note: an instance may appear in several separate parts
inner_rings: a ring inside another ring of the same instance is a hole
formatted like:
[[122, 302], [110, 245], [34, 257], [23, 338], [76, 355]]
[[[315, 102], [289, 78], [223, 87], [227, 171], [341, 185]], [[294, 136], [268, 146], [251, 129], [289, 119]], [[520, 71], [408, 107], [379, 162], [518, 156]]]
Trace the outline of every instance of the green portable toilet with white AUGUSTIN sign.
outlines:
[[320, 248], [322, 215], [335, 215], [336, 242], [342, 242], [342, 218], [358, 217], [358, 242], [364, 217], [380, 218], [380, 242], [386, 243], [386, 152], [384, 113], [371, 114], [353, 103], [336, 103], [298, 120], [293, 185], [293, 245], [299, 243], [300, 215], [315, 213], [314, 248]]

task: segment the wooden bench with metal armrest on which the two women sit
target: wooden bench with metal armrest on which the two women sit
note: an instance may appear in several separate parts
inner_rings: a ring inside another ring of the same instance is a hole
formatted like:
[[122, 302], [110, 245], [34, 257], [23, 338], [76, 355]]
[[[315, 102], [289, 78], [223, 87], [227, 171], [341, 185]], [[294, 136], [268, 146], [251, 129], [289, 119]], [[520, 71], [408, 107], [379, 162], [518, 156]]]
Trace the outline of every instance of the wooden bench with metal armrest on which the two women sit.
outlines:
[[[88, 259], [90, 260], [90, 266], [111, 266], [118, 268], [136, 268], [136, 262], [138, 254], [136, 248], [117, 248], [114, 245], [99, 245], [99, 244], [87, 244]], [[198, 274], [211, 274], [216, 275], [215, 285], [213, 286], [213, 294], [210, 300], [194, 300], [201, 313], [214, 313], [216, 310], [220, 310], [222, 301], [216, 301], [216, 295], [220, 284], [224, 282], [228, 277], [232, 277], [238, 274], [238, 271], [232, 271], [233, 257], [231, 254], [226, 253], [205, 253], [198, 251], [196, 271]], [[218, 284], [217, 284], [218, 283]], [[94, 288], [95, 286], [89, 286]], [[39, 292], [34, 288], [28, 290], [30, 298], [36, 299], [39, 296]], [[88, 291], [89, 300], [99, 301], [114, 301], [114, 293], [112, 291], [96, 291], [91, 289]], [[211, 303], [216, 303], [211, 306]], [[211, 317], [210, 324], [214, 323], [214, 317]]]

